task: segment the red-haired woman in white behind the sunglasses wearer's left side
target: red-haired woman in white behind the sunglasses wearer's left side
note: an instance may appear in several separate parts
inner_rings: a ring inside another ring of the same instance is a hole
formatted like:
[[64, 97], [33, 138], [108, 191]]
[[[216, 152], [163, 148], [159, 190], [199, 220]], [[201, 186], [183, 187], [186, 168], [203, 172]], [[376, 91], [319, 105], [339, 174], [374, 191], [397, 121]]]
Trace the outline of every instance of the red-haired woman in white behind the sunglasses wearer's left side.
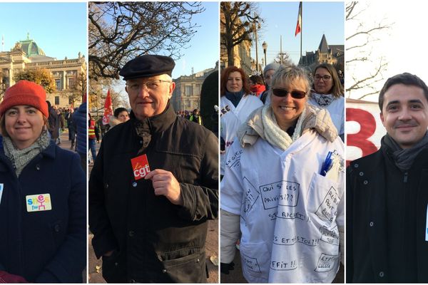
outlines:
[[220, 175], [224, 174], [225, 155], [238, 127], [263, 105], [257, 96], [251, 95], [248, 79], [243, 69], [236, 66], [225, 68], [220, 78]]

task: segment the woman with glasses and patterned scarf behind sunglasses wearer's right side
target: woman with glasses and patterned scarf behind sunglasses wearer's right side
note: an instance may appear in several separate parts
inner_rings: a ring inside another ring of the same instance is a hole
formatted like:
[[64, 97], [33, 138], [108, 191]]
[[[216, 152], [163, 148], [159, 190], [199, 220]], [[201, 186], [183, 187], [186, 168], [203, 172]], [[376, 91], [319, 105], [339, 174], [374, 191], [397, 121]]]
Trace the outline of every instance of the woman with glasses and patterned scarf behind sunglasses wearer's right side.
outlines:
[[309, 103], [326, 108], [337, 128], [340, 138], [344, 141], [345, 133], [345, 98], [343, 86], [336, 69], [328, 63], [322, 63], [313, 73], [314, 84], [310, 93]]

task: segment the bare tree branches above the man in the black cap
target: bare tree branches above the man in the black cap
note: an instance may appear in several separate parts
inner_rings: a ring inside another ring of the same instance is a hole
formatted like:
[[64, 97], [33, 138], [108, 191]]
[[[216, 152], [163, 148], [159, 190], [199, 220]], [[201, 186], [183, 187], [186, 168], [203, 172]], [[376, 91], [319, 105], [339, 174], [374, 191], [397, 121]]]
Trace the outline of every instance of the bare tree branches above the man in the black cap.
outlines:
[[89, 2], [89, 78], [118, 78], [127, 61], [146, 53], [178, 59], [197, 32], [200, 2]]

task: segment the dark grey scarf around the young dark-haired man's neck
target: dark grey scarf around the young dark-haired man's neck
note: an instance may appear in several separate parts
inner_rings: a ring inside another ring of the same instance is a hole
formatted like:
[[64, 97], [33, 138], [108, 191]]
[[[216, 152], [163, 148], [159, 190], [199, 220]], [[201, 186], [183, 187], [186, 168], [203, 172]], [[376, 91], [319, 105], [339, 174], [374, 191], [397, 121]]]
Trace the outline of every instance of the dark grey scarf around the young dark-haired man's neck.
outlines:
[[414, 158], [419, 155], [425, 147], [428, 147], [428, 132], [425, 133], [424, 138], [420, 140], [416, 145], [402, 149], [399, 147], [397, 142], [393, 140], [388, 134], [384, 135], [380, 144], [384, 147], [387, 147], [392, 152], [392, 159], [394, 160], [395, 165], [399, 170], [405, 171], [409, 170], [412, 167]]

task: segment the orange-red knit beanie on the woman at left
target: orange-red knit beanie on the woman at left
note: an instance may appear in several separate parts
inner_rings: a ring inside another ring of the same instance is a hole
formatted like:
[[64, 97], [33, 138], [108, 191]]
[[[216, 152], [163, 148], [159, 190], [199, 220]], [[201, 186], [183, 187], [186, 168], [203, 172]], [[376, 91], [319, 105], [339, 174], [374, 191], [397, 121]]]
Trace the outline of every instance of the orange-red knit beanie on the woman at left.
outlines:
[[6, 89], [0, 103], [0, 116], [16, 105], [29, 105], [39, 110], [46, 118], [49, 117], [46, 92], [43, 87], [31, 81], [18, 81]]

